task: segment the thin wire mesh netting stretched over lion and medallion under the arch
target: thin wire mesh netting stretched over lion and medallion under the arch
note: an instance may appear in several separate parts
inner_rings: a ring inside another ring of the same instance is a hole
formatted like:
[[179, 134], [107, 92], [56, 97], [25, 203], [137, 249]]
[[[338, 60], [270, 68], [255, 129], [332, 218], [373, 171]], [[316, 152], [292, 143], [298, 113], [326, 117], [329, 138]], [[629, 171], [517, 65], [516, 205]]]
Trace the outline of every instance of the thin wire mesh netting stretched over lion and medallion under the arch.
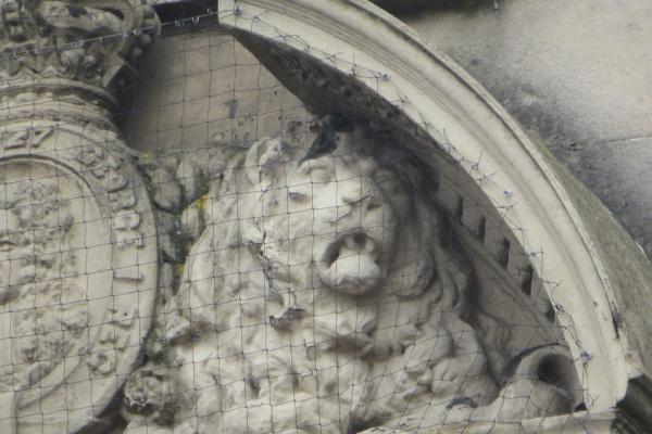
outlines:
[[391, 77], [280, 31], [275, 76], [216, 24], [264, 16], [209, 1], [93, 4], [0, 5], [2, 432], [581, 426], [546, 253], [481, 156], [369, 110]]

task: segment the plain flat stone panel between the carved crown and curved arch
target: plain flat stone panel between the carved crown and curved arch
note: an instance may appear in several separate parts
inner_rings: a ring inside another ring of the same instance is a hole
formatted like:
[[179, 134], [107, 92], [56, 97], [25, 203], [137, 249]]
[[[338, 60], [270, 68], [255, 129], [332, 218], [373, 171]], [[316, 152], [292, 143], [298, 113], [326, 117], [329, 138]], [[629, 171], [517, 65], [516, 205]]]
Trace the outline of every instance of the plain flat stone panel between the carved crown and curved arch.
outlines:
[[181, 157], [176, 177], [190, 201], [204, 183], [197, 170], [209, 179], [220, 162], [213, 144], [248, 146], [305, 118], [301, 101], [221, 31], [165, 38], [137, 65], [142, 79], [131, 113], [138, 116], [121, 119], [122, 129], [131, 146], [156, 159]]

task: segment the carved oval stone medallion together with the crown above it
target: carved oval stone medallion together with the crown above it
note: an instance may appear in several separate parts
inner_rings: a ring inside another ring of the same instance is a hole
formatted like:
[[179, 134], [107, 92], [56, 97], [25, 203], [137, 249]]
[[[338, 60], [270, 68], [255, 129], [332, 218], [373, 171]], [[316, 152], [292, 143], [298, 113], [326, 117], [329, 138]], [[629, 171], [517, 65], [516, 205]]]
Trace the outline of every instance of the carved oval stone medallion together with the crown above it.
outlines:
[[105, 429], [158, 286], [111, 87], [158, 21], [139, 0], [7, 0], [0, 20], [0, 432]]

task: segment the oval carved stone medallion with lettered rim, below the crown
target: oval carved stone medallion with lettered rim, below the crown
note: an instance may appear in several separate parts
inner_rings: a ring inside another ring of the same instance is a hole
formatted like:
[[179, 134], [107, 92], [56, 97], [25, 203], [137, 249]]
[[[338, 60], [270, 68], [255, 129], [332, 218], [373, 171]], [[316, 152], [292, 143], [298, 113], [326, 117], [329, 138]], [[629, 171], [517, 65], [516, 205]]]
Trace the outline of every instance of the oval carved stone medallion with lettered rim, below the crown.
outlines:
[[[0, 136], [0, 425], [75, 432], [138, 362], [156, 290], [147, 191], [112, 131]], [[1, 431], [1, 430], [0, 430]]]

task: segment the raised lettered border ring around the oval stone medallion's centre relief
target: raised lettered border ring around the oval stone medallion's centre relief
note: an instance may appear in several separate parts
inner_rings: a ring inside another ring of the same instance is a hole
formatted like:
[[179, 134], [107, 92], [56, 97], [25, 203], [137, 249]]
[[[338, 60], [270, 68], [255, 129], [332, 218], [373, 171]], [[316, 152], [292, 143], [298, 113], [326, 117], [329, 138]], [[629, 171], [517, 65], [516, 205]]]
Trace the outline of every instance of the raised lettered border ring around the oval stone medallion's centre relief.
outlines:
[[[91, 193], [83, 200], [92, 201], [89, 207], [97, 206], [101, 215], [93, 225], [109, 234], [104, 250], [111, 254], [90, 258], [103, 264], [100, 275], [109, 281], [102, 281], [102, 291], [90, 283], [86, 289], [89, 342], [77, 348], [79, 360], [72, 369], [63, 362], [55, 368], [58, 384], [47, 396], [30, 396], [26, 391], [16, 398], [20, 427], [21, 412], [33, 409], [38, 413], [47, 399], [61, 400], [75, 393], [83, 400], [88, 397], [80, 408], [71, 410], [71, 422], [67, 417], [58, 419], [61, 431], [76, 432], [102, 413], [140, 362], [158, 291], [154, 215], [135, 165], [113, 131], [47, 120], [10, 124], [0, 131], [0, 164], [13, 162], [48, 165], [86, 186]], [[86, 213], [77, 217], [84, 219]], [[88, 379], [66, 381], [83, 369], [89, 370]]]

